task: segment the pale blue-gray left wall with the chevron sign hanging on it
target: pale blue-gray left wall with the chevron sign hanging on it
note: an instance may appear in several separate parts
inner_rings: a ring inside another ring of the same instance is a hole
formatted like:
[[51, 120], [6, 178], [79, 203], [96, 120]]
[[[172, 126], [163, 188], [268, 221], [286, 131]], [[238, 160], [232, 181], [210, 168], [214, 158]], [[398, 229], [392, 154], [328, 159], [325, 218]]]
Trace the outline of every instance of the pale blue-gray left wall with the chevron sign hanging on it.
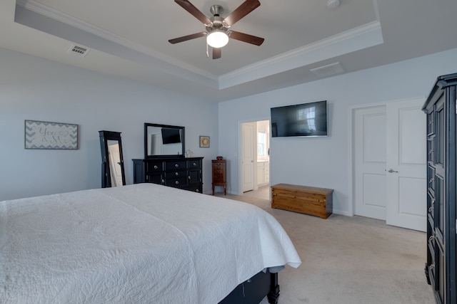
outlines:
[[[0, 201], [101, 187], [99, 130], [122, 132], [126, 182], [144, 157], [144, 122], [186, 127], [211, 192], [217, 104], [0, 48]], [[79, 150], [25, 150], [24, 120], [79, 125]]]

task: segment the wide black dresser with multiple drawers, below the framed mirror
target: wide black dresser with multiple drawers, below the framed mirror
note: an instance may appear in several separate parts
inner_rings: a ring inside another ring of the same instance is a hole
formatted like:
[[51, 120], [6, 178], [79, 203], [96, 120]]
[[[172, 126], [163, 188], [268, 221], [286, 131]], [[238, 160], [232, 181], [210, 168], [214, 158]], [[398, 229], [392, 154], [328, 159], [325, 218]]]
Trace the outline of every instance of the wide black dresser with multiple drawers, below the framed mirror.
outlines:
[[151, 182], [203, 193], [203, 157], [132, 159], [134, 184]]

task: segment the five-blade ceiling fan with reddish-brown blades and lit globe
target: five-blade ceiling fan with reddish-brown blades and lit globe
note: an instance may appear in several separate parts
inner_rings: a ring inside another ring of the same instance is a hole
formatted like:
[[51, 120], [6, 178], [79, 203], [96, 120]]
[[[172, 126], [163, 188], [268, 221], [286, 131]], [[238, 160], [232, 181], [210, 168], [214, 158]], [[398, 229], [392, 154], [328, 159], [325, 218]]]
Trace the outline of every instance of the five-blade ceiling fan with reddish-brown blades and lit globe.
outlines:
[[[213, 59], [221, 58], [221, 48], [229, 42], [229, 38], [243, 41], [246, 43], [251, 43], [256, 46], [260, 46], [265, 39], [248, 35], [247, 33], [240, 33], [238, 31], [231, 31], [229, 28], [233, 26], [236, 22], [242, 19], [247, 14], [251, 13], [254, 9], [260, 6], [258, 0], [246, 0], [238, 6], [234, 11], [222, 18], [220, 14], [224, 11], [222, 6], [214, 5], [211, 6], [211, 14], [213, 16], [208, 18], [203, 14], [199, 9], [197, 9], [194, 4], [191, 4], [188, 0], [174, 0], [179, 4], [183, 9], [189, 11], [192, 16], [196, 19], [199, 19], [206, 26], [206, 31], [201, 31], [199, 33], [193, 33], [191, 35], [182, 36], [179, 38], [170, 39], [169, 43], [179, 43], [183, 41], [188, 41], [195, 38], [200, 38], [206, 36], [207, 45], [213, 48]], [[208, 56], [208, 51], [206, 51], [206, 56]]]

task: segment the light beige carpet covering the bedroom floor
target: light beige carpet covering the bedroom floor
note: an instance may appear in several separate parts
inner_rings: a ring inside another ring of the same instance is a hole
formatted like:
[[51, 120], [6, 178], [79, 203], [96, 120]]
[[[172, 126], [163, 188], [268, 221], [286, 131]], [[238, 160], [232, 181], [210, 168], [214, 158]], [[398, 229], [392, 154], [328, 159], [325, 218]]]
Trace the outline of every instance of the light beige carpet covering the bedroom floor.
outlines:
[[303, 263], [279, 273], [279, 304], [435, 303], [423, 271], [423, 232], [361, 216], [321, 219], [271, 209], [269, 187], [242, 196], [216, 195], [268, 211], [291, 237]]

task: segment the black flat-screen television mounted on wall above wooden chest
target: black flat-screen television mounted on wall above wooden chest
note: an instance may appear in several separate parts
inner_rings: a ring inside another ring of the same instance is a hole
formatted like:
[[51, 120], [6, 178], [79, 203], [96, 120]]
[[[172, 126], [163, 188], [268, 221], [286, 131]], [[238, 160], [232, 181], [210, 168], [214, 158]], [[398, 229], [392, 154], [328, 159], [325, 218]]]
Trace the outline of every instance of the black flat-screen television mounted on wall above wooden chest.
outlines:
[[328, 136], [327, 100], [271, 108], [271, 137]]

